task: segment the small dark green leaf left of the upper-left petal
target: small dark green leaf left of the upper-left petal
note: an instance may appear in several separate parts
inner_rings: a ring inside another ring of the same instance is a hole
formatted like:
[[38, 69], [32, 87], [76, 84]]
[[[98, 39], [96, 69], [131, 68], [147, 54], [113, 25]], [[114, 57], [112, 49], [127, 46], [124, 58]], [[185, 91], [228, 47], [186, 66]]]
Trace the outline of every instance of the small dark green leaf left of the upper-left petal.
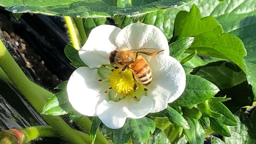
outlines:
[[73, 65], [74, 67], [78, 68], [78, 67], [86, 67], [87, 65], [84, 64], [84, 62], [80, 59], [78, 51], [72, 47], [72, 45], [66, 45], [64, 52], [67, 56], [67, 58], [69, 58], [69, 60], [71, 61], [71, 65]]

